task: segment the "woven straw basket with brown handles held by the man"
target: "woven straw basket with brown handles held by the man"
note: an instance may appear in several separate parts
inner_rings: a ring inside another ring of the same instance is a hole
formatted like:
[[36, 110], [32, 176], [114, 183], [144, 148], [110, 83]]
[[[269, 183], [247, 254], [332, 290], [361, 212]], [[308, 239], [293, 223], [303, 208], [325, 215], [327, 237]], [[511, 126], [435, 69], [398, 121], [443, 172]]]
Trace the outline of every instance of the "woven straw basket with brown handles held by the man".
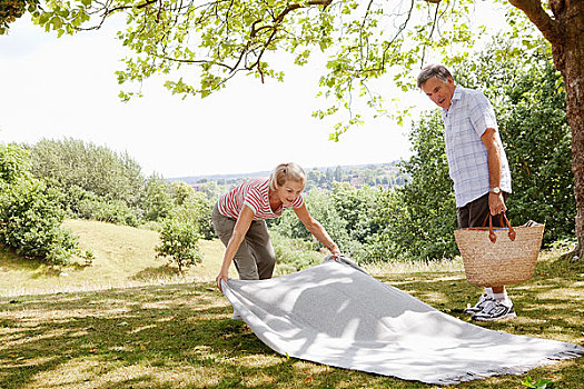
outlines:
[[466, 279], [473, 285], [499, 287], [533, 277], [545, 226], [512, 227], [504, 215], [503, 218], [508, 228], [493, 230], [489, 218], [488, 228], [454, 231]]

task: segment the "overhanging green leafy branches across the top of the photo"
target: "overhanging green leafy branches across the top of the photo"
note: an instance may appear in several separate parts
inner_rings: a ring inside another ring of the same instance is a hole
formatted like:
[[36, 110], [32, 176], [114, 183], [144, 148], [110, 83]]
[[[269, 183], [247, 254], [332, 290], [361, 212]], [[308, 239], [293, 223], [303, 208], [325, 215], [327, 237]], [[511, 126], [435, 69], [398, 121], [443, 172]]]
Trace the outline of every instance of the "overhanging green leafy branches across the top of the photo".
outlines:
[[[389, 72], [407, 90], [417, 73], [413, 70], [429, 59], [446, 64], [464, 59], [485, 31], [471, 23], [475, 7], [473, 0], [49, 0], [31, 13], [36, 23], [59, 36], [97, 29], [122, 16], [126, 27], [118, 37], [130, 54], [118, 80], [137, 86], [120, 93], [123, 100], [141, 96], [142, 81], [156, 74], [167, 78], [172, 93], [207, 97], [238, 73], [281, 81], [283, 59], [298, 66], [310, 61], [321, 73], [325, 101], [314, 116], [346, 113], [331, 133], [337, 140], [363, 121], [362, 112], [388, 114], [376, 92], [384, 89], [382, 76]], [[505, 7], [516, 34], [525, 20]]]

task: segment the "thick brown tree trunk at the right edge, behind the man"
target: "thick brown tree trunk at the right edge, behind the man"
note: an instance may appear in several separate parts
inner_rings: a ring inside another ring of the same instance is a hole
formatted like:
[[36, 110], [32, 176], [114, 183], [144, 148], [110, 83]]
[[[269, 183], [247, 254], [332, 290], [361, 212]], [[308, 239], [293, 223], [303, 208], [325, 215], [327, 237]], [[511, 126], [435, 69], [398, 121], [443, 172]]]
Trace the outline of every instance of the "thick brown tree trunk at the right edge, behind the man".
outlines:
[[572, 129], [572, 171], [576, 198], [575, 256], [584, 260], [584, 1], [548, 0], [554, 18], [541, 0], [509, 0], [552, 43], [554, 64], [564, 78], [567, 123]]

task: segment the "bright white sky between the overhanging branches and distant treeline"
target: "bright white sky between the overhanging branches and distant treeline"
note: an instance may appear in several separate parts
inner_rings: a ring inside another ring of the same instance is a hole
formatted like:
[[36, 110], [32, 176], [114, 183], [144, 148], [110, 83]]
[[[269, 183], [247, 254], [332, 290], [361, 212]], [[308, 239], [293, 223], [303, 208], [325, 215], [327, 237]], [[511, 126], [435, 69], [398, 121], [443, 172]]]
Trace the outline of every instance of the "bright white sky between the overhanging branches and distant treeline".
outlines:
[[[287, 67], [285, 82], [236, 77], [227, 88], [185, 100], [147, 80], [145, 97], [121, 102], [115, 71], [123, 48], [116, 28], [57, 38], [27, 17], [0, 36], [0, 142], [75, 138], [117, 152], [166, 178], [247, 173], [294, 161], [306, 169], [384, 163], [408, 158], [407, 126], [366, 118], [339, 142], [328, 140], [335, 119], [311, 117], [318, 71]], [[392, 79], [382, 79], [396, 93]], [[435, 108], [419, 91], [404, 96]], [[406, 102], [405, 102], [406, 103]]]

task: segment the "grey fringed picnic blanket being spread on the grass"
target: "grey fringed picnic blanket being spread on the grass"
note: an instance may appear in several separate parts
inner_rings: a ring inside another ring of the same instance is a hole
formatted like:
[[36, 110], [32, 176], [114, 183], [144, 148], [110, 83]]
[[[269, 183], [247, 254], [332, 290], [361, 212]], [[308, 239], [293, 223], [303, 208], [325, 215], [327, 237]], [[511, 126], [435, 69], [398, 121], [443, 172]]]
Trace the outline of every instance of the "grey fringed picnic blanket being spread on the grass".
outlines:
[[344, 257], [268, 280], [230, 279], [222, 290], [280, 355], [406, 380], [453, 385], [584, 355], [576, 345], [458, 320]]

